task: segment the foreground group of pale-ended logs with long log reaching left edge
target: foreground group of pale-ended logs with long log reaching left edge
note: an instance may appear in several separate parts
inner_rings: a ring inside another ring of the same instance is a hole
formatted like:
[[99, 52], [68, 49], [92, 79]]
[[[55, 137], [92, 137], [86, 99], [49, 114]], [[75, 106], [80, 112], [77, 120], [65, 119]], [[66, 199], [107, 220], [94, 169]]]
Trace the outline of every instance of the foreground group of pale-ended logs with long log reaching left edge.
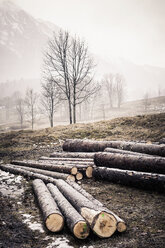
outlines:
[[[66, 220], [68, 228], [79, 239], [89, 235], [89, 227], [101, 238], [110, 237], [116, 229], [126, 230], [122, 219], [105, 208], [89, 193], [67, 179], [54, 179], [15, 165], [0, 165], [0, 169], [35, 179], [33, 188], [43, 213], [44, 223], [52, 232], [60, 231]], [[47, 186], [45, 183], [48, 183]]]

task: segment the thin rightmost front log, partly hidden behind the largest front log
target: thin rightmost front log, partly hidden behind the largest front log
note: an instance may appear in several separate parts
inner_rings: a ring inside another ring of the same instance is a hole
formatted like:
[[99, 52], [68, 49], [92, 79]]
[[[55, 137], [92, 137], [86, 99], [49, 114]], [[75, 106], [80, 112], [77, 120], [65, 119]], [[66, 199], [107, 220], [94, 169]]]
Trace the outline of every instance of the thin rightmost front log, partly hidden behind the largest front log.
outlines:
[[[74, 189], [76, 189], [82, 195], [84, 195], [86, 198], [88, 198], [90, 201], [92, 201], [94, 204], [98, 205], [99, 207], [104, 207], [103, 204], [100, 201], [95, 199], [91, 194], [89, 194], [86, 190], [84, 190], [76, 182], [67, 180], [67, 183], [70, 184]], [[115, 216], [115, 218], [117, 220], [117, 230], [118, 230], [118, 232], [124, 232], [127, 229], [126, 223], [124, 222], [124, 220], [121, 219], [119, 216], [117, 216], [112, 211], [108, 210], [107, 208], [106, 208], [106, 211], [112, 213]]]

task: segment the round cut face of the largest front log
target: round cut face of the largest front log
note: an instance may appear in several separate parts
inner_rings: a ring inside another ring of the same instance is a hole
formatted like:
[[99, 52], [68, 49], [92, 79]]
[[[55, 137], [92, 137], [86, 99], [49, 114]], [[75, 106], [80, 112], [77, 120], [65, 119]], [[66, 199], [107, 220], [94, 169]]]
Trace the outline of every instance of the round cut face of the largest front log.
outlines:
[[93, 231], [96, 232], [100, 238], [112, 236], [116, 231], [116, 219], [106, 212], [101, 212], [95, 222]]

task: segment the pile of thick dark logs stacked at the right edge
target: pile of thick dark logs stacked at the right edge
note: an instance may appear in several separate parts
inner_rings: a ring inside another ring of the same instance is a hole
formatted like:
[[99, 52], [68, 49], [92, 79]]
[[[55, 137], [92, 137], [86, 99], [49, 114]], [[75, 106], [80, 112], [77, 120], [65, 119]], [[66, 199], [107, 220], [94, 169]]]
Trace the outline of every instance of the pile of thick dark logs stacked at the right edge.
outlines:
[[96, 152], [93, 176], [129, 186], [165, 190], [165, 145], [125, 141], [67, 140], [67, 152]]

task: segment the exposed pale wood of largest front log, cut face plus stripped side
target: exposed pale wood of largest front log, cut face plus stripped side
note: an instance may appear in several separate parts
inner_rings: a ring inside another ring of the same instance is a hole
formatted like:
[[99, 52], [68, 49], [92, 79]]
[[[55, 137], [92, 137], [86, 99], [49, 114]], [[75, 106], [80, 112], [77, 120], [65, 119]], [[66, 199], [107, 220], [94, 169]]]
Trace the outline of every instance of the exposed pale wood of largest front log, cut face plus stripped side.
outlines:
[[96, 215], [95, 210], [89, 208], [82, 208], [81, 215], [90, 223], [92, 230], [100, 238], [111, 237], [116, 231], [117, 221], [115, 217], [104, 211], [98, 211]]

